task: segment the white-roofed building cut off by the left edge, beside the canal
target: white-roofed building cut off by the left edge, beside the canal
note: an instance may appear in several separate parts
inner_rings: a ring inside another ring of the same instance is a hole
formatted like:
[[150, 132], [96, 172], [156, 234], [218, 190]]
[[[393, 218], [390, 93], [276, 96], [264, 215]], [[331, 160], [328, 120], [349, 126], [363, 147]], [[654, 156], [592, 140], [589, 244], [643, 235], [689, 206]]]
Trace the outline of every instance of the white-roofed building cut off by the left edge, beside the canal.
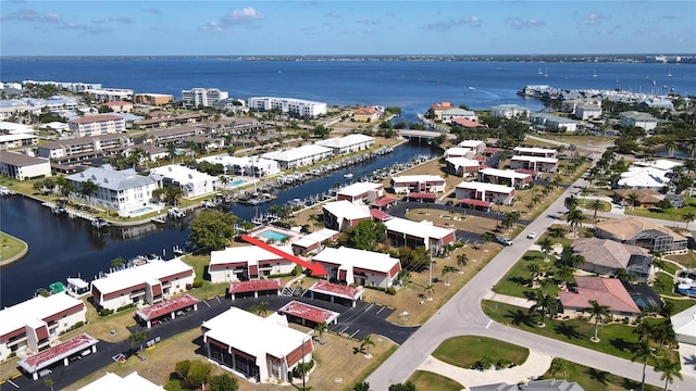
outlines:
[[86, 313], [82, 300], [65, 291], [37, 295], [0, 310], [0, 361], [11, 354], [25, 356], [49, 346], [75, 324], [85, 323]]

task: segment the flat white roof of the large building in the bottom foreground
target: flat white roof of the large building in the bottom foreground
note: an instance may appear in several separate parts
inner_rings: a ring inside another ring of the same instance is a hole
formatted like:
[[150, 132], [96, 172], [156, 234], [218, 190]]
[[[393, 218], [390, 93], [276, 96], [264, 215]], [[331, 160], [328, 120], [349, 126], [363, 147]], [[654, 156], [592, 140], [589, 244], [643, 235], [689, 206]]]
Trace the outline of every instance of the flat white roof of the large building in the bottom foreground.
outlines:
[[265, 361], [266, 353], [281, 358], [311, 340], [311, 336], [287, 327], [285, 316], [263, 318], [234, 306], [203, 321], [202, 327], [209, 329], [203, 338], [212, 338], [259, 361]]

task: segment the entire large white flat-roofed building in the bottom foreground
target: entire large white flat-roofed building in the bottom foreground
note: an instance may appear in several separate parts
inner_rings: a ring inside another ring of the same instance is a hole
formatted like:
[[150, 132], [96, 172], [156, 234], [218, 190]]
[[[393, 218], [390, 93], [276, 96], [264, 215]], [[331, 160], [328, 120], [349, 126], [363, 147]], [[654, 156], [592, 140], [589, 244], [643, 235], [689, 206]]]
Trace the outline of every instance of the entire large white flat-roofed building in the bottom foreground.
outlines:
[[209, 360], [257, 382], [287, 382], [288, 374], [312, 361], [312, 336], [288, 327], [287, 318], [263, 318], [237, 307], [203, 321], [203, 350]]

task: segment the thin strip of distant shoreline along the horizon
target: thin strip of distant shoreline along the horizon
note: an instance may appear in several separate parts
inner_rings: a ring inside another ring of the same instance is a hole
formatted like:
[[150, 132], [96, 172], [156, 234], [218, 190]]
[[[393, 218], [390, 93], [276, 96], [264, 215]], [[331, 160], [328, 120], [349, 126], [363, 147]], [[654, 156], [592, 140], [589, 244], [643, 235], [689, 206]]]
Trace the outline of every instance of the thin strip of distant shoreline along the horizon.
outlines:
[[696, 53], [614, 53], [614, 54], [314, 54], [314, 55], [3, 55], [0, 61], [99, 61], [99, 60], [229, 60], [229, 61], [498, 61], [498, 62], [636, 62], [647, 58], [691, 58]]

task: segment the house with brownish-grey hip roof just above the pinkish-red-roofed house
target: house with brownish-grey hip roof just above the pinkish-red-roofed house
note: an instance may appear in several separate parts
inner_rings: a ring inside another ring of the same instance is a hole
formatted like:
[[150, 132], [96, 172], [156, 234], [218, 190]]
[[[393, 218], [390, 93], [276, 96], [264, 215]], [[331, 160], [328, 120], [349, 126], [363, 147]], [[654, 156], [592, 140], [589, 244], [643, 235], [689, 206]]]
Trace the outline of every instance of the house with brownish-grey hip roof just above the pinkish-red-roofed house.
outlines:
[[585, 262], [577, 268], [610, 277], [619, 269], [633, 274], [638, 281], [647, 281], [652, 260], [649, 252], [637, 245], [623, 244], [608, 239], [580, 238], [572, 244], [573, 252]]

